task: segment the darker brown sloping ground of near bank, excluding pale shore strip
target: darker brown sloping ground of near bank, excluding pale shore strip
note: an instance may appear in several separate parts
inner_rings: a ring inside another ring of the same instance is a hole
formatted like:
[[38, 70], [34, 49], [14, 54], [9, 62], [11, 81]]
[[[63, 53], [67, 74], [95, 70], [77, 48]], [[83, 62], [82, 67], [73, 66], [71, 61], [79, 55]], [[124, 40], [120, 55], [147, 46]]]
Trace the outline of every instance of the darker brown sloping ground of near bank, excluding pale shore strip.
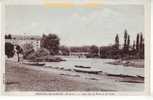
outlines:
[[88, 85], [88, 83], [69, 80], [54, 73], [28, 69], [25, 65], [15, 62], [6, 62], [5, 75], [6, 91], [90, 90], [90, 85]]

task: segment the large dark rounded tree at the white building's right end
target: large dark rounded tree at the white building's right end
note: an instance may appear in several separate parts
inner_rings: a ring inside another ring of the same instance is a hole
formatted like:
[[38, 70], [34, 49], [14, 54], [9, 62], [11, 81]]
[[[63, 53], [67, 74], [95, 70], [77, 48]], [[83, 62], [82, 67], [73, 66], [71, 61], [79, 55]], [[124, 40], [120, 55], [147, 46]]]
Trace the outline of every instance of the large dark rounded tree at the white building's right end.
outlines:
[[59, 44], [60, 39], [55, 34], [43, 35], [41, 39], [41, 47], [48, 49], [51, 55], [58, 54]]

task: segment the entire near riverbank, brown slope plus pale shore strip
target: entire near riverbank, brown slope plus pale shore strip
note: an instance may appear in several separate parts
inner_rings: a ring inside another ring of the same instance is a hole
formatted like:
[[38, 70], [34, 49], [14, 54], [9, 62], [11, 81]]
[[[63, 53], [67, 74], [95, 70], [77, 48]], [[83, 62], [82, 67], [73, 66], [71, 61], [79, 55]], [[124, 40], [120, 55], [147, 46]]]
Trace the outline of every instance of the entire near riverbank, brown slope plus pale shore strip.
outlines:
[[139, 77], [95, 75], [6, 60], [6, 91], [142, 91]]

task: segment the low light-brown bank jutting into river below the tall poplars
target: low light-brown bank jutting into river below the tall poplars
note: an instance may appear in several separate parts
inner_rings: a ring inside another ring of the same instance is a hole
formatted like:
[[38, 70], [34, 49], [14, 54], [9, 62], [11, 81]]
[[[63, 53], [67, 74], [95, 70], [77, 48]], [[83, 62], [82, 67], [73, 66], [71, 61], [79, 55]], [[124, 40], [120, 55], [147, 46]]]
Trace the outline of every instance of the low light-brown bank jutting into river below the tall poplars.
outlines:
[[108, 62], [108, 64], [144, 68], [144, 59], [115, 60], [113, 62]]

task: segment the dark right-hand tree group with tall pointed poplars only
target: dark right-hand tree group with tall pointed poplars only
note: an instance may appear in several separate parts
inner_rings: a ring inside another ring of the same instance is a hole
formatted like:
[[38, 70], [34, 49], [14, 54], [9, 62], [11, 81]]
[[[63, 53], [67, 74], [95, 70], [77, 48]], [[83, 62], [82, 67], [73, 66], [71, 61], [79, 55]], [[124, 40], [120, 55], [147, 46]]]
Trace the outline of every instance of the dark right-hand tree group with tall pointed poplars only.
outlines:
[[142, 33], [138, 33], [136, 40], [131, 43], [130, 35], [127, 30], [124, 31], [124, 44], [120, 44], [118, 34], [115, 37], [115, 44], [100, 48], [101, 58], [113, 59], [144, 59], [144, 37]]

